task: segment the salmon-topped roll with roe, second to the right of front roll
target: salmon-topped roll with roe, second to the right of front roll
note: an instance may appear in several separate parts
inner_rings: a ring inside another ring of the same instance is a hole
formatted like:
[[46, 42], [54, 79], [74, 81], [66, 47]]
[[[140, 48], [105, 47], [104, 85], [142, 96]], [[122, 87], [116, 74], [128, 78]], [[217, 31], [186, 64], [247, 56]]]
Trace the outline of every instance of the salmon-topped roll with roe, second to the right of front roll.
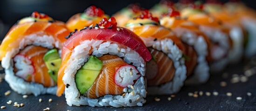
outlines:
[[210, 40], [199, 31], [198, 25], [180, 17], [180, 12], [169, 9], [160, 19], [160, 25], [172, 29], [185, 46], [184, 56], [188, 84], [204, 83], [209, 79]]

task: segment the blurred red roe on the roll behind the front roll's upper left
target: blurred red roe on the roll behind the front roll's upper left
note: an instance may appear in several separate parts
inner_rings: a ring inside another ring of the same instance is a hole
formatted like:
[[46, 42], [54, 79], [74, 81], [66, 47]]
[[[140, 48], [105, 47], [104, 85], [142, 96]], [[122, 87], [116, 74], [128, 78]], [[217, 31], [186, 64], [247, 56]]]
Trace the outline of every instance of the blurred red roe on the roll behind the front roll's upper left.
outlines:
[[94, 17], [102, 17], [104, 15], [104, 11], [96, 6], [90, 6], [84, 12], [85, 14]]

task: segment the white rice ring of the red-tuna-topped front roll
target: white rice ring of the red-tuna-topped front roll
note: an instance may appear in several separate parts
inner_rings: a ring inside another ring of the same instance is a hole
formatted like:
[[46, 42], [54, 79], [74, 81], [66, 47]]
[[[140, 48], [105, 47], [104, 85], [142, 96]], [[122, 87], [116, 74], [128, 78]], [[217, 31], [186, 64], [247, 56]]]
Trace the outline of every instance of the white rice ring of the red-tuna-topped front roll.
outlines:
[[[118, 50], [118, 47], [120, 50]], [[91, 54], [90, 49], [92, 49]], [[129, 85], [124, 88], [124, 93], [126, 93], [124, 96], [105, 95], [97, 99], [90, 99], [80, 95], [74, 78], [76, 71], [87, 62], [90, 55], [100, 57], [106, 54], [116, 55], [123, 58], [126, 63], [135, 66], [142, 76], [136, 81], [133, 87]], [[69, 87], [65, 88], [65, 98], [69, 106], [142, 106], [146, 102], [144, 59], [134, 50], [119, 43], [93, 39], [80, 42], [80, 44], [72, 50], [72, 54], [68, 60], [68, 66], [65, 68], [64, 73], [62, 80], [65, 85], [69, 84]]]

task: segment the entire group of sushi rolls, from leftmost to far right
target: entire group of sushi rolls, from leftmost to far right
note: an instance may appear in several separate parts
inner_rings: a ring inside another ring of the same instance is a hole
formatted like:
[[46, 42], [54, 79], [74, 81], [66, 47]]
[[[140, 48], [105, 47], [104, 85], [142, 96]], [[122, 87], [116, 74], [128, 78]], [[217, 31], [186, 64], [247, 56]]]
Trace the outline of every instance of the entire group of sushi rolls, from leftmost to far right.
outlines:
[[65, 94], [70, 106], [142, 106], [146, 95], [178, 93], [255, 56], [255, 27], [255, 11], [238, 1], [161, 0], [113, 17], [90, 6], [66, 23], [33, 12], [7, 33], [0, 60], [20, 94]]

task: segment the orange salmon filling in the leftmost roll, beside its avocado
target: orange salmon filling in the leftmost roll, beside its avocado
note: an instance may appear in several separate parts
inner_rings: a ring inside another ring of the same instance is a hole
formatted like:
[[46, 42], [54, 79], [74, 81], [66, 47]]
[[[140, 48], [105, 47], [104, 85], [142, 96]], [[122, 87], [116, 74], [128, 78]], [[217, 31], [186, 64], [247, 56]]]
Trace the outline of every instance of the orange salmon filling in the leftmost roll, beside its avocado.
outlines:
[[27, 46], [25, 49], [20, 51], [18, 55], [27, 57], [35, 68], [34, 74], [31, 74], [26, 81], [39, 83], [46, 87], [56, 85], [54, 80], [49, 76], [48, 68], [43, 61], [43, 56], [47, 51], [47, 48], [33, 45]]

